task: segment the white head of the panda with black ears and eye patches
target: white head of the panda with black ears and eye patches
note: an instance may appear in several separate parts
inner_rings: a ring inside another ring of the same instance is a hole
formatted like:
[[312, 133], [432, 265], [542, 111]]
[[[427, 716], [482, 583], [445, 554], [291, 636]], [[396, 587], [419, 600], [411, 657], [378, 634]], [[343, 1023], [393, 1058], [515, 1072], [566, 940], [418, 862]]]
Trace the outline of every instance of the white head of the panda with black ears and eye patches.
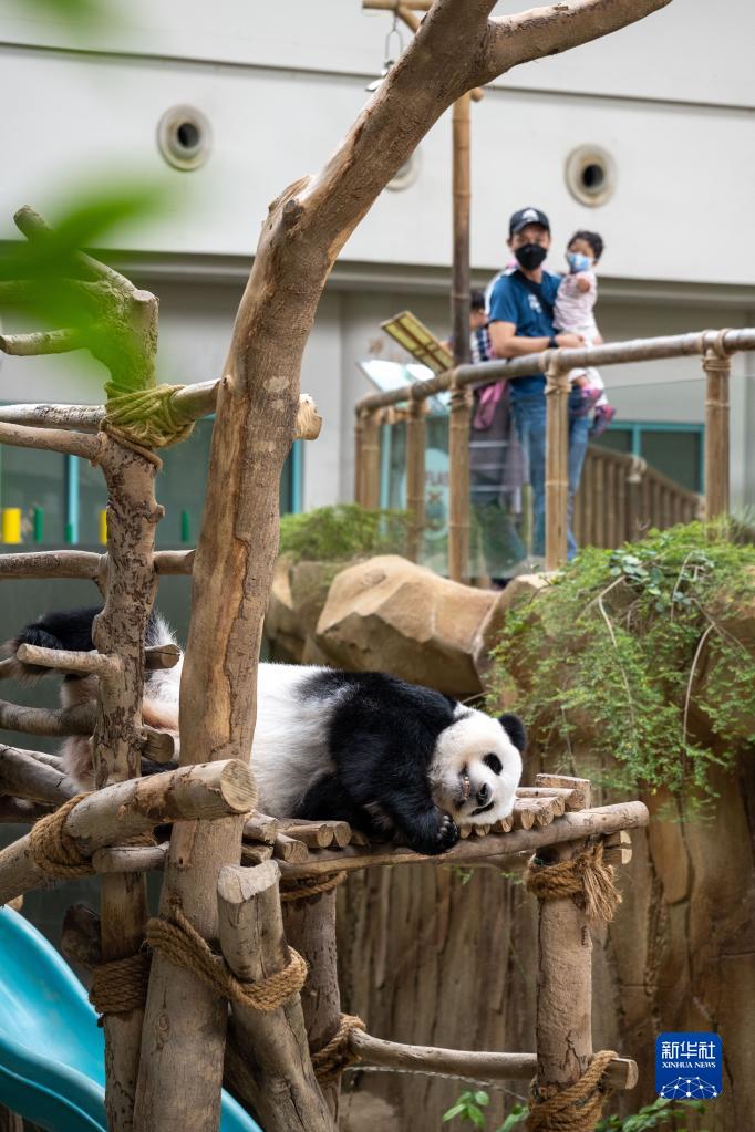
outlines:
[[456, 824], [507, 817], [522, 777], [524, 724], [516, 715], [492, 719], [460, 706], [438, 736], [428, 775], [432, 799]]

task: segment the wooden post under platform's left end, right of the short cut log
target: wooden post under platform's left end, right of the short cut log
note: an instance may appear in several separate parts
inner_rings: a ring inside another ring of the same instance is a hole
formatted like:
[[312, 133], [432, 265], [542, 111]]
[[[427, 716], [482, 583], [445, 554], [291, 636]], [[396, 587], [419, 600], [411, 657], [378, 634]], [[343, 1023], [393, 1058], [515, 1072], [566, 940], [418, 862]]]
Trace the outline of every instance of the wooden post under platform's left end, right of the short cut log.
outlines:
[[[336, 890], [331, 889], [329, 892], [303, 900], [289, 900], [283, 904], [286, 940], [303, 955], [309, 967], [301, 1004], [312, 1053], [327, 1045], [341, 1020], [335, 901]], [[341, 1080], [338, 1078], [321, 1088], [328, 1109], [337, 1122]]]

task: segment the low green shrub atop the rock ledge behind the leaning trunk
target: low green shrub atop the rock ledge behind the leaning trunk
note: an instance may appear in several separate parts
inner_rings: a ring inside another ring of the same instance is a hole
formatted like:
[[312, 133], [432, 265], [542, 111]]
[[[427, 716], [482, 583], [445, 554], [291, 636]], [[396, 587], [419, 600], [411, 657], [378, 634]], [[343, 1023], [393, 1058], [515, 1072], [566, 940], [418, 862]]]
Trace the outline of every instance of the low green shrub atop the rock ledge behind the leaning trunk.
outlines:
[[370, 555], [403, 554], [410, 516], [370, 511], [359, 504], [317, 507], [281, 518], [280, 554], [294, 561], [345, 561]]

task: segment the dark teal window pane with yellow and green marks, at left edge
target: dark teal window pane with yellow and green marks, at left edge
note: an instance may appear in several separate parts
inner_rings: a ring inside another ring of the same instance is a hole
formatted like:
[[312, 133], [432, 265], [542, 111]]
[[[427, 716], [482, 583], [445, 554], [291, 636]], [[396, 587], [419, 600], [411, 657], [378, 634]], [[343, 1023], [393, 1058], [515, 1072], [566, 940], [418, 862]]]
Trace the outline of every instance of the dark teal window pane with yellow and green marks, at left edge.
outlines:
[[19, 507], [24, 546], [61, 543], [65, 528], [66, 457], [57, 452], [3, 447], [0, 501]]

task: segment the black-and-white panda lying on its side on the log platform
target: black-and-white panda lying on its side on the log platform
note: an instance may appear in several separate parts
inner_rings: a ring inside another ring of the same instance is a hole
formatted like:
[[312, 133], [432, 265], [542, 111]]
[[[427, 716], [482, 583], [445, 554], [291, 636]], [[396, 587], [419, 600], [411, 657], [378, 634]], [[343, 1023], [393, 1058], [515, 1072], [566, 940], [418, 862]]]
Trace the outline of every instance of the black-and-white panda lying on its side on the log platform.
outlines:
[[[48, 614], [7, 651], [15, 654], [23, 643], [89, 650], [98, 611]], [[146, 643], [175, 643], [160, 615], [149, 618]], [[177, 745], [182, 661], [147, 674], [143, 704], [145, 723], [173, 734]], [[19, 662], [17, 675], [46, 671]], [[449, 849], [460, 824], [511, 814], [525, 744], [516, 715], [492, 719], [383, 672], [261, 663], [257, 679], [252, 766], [263, 813], [343, 820], [368, 837], [393, 834], [421, 854]], [[95, 696], [96, 677], [63, 679], [65, 705]], [[91, 788], [88, 739], [67, 739], [62, 754], [68, 773]], [[144, 765], [143, 772], [165, 769]]]

